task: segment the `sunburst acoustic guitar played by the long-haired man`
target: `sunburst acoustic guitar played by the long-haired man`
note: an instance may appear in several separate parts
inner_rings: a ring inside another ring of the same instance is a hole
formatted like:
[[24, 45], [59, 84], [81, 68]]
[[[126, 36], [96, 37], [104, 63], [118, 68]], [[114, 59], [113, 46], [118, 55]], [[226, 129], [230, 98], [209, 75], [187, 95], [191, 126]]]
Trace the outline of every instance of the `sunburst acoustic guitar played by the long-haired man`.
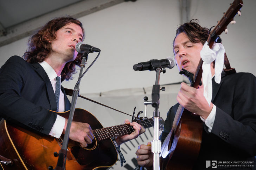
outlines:
[[[69, 117], [69, 111], [57, 114]], [[90, 124], [94, 141], [86, 148], [82, 148], [77, 142], [69, 140], [67, 170], [108, 169], [118, 158], [111, 138], [134, 131], [128, 124], [103, 128], [94, 115], [83, 109], [75, 109], [73, 121]], [[144, 128], [154, 126], [153, 118], [146, 121], [140, 119], [139, 122]], [[63, 137], [57, 139], [41, 135], [9, 124], [5, 120], [0, 122], [0, 130], [0, 161], [9, 161], [12, 164], [1, 163], [4, 170], [47, 170], [56, 167]]]

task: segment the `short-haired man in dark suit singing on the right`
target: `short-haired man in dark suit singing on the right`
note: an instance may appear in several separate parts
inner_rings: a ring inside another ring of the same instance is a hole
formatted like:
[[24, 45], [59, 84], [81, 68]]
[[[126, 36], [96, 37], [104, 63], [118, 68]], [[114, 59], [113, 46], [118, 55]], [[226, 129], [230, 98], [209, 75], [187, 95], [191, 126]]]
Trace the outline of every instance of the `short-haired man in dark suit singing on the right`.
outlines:
[[[193, 74], [196, 73], [200, 52], [208, 36], [209, 29], [201, 27], [194, 20], [179, 26], [173, 41], [173, 53], [179, 70], [184, 68]], [[213, 62], [210, 65], [210, 74], [216, 77]], [[206, 169], [206, 161], [209, 160], [233, 162], [232, 167], [225, 164], [223, 167], [218, 166], [218, 169], [255, 169], [255, 94], [256, 77], [250, 73], [223, 72], [219, 84], [212, 78], [210, 103], [204, 97], [204, 86], [196, 89], [181, 83], [177, 95], [178, 103], [167, 113], [160, 140], [163, 142], [171, 131], [176, 111], [181, 105], [191, 113], [199, 115], [203, 121], [201, 148], [193, 165], [194, 170]], [[140, 145], [136, 155], [139, 165], [152, 169], [153, 155], [150, 143]], [[238, 165], [237, 163], [245, 166], [234, 166]]]

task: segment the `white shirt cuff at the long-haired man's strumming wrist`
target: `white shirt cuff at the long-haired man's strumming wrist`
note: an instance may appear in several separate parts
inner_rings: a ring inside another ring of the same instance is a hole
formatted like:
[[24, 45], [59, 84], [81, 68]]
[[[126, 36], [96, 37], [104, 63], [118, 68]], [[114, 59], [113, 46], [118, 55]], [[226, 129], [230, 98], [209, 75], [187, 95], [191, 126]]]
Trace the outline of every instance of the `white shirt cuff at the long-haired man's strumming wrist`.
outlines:
[[66, 121], [66, 119], [64, 117], [57, 115], [56, 121], [53, 124], [49, 135], [59, 138], [63, 132], [64, 126], [65, 126], [65, 121]]

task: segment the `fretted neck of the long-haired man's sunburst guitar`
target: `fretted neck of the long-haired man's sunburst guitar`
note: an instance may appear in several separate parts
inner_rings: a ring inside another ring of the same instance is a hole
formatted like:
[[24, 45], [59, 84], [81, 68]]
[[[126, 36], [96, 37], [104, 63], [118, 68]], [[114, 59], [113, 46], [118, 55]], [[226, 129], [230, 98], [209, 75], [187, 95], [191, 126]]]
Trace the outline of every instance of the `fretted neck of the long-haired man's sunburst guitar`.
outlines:
[[[140, 124], [143, 128], [150, 128], [154, 126], [153, 118], [149, 118], [147, 121], [140, 120]], [[113, 137], [130, 134], [134, 131], [133, 127], [129, 124], [120, 124], [102, 129], [93, 130], [94, 136], [98, 141], [110, 139]]]

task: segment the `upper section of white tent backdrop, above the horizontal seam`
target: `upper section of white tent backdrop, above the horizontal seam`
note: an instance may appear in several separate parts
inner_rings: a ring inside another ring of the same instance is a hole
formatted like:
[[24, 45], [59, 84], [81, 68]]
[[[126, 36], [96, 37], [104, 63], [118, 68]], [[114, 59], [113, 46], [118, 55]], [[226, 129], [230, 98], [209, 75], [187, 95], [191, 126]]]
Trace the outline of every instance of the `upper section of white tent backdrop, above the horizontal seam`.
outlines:
[[[216, 25], [229, 1], [191, 0], [190, 18], [197, 18], [202, 26]], [[223, 45], [232, 67], [238, 72], [251, 72], [254, 68], [254, 42], [256, 35], [256, 1], [244, 0], [242, 16], [235, 17], [237, 23], [229, 25], [229, 33], [222, 34]], [[63, 14], [65, 15], [65, 14]], [[56, 16], [52, 16], [55, 18]], [[81, 93], [100, 93], [125, 88], [148, 87], [154, 83], [152, 73], [135, 72], [133, 65], [150, 59], [164, 59], [172, 56], [172, 42], [177, 25], [181, 23], [179, 0], [137, 0], [103, 9], [78, 18], [82, 21], [85, 43], [101, 49], [101, 55], [84, 76]], [[22, 56], [27, 49], [27, 38], [0, 47], [0, 65], [12, 55]], [[88, 64], [96, 53], [89, 54]], [[174, 83], [183, 80], [178, 70], [167, 70], [160, 83]], [[63, 82], [73, 88], [74, 81]]]

